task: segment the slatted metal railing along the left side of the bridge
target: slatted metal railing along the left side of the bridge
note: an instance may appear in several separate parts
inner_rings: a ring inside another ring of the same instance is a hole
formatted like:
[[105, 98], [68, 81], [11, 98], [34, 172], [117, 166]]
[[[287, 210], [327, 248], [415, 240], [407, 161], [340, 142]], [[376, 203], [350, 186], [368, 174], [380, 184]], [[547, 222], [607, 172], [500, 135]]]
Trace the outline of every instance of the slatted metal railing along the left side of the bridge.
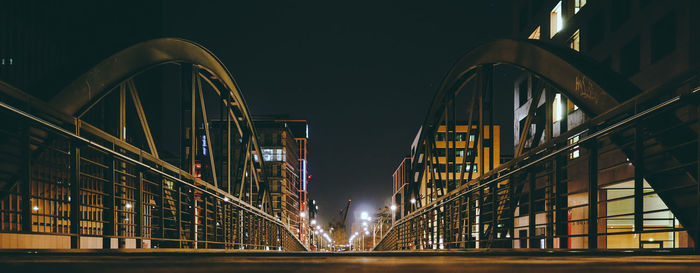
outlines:
[[16, 94], [0, 109], [2, 234], [54, 236], [56, 248], [307, 250], [279, 219], [90, 124]]

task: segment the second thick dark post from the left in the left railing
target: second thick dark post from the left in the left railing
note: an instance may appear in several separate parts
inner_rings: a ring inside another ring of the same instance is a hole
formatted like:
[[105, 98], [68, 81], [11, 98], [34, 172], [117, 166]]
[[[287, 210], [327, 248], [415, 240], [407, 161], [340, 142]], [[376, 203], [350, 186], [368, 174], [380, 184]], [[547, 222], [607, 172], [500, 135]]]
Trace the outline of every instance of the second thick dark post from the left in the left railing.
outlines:
[[[70, 195], [70, 233], [71, 233], [71, 248], [80, 248], [80, 148], [76, 143], [71, 143], [71, 184]], [[113, 209], [113, 208], [112, 208]], [[113, 211], [113, 210], [112, 210]]]

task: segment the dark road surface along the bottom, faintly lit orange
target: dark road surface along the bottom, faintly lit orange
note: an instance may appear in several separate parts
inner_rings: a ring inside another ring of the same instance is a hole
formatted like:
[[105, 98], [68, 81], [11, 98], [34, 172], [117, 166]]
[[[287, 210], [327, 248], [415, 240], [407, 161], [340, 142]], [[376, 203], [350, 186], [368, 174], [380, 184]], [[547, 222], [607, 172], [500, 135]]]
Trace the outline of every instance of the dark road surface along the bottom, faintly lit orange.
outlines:
[[700, 272], [699, 255], [0, 252], [0, 272]]

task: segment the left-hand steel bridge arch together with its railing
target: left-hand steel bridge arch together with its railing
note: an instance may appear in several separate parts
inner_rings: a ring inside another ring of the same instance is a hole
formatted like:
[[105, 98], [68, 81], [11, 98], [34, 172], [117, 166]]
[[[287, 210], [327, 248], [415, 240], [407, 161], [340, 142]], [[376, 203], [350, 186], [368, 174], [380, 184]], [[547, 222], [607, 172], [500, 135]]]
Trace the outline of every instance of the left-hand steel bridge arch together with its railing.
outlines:
[[0, 90], [0, 233], [25, 248], [306, 250], [271, 215], [247, 106], [204, 47], [134, 45], [49, 102]]

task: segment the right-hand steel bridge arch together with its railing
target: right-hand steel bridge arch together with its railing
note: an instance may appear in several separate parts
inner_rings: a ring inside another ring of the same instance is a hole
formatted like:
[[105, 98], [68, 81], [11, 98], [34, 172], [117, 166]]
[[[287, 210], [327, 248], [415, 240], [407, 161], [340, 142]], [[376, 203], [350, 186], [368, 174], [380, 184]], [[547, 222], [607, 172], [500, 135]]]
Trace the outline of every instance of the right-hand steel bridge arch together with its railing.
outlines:
[[[514, 124], [520, 129], [514, 158], [504, 163], [491, 137], [499, 128], [493, 107], [502, 100], [493, 91], [499, 65], [533, 78], [527, 115]], [[444, 78], [411, 147], [404, 193], [410, 213], [375, 250], [596, 249], [637, 235], [639, 244], [629, 248], [691, 247], [652, 237], [700, 238], [695, 86], [698, 71], [642, 91], [578, 52], [533, 40], [497, 40], [469, 51]], [[556, 96], [581, 109], [577, 126], [565, 127], [566, 114], [556, 120], [555, 104], [566, 107]], [[628, 195], [606, 194], [624, 180], [631, 181]], [[660, 198], [662, 208], [650, 210], [650, 198]], [[633, 205], [608, 213], [614, 202]], [[609, 228], [614, 221], [631, 228]]]

